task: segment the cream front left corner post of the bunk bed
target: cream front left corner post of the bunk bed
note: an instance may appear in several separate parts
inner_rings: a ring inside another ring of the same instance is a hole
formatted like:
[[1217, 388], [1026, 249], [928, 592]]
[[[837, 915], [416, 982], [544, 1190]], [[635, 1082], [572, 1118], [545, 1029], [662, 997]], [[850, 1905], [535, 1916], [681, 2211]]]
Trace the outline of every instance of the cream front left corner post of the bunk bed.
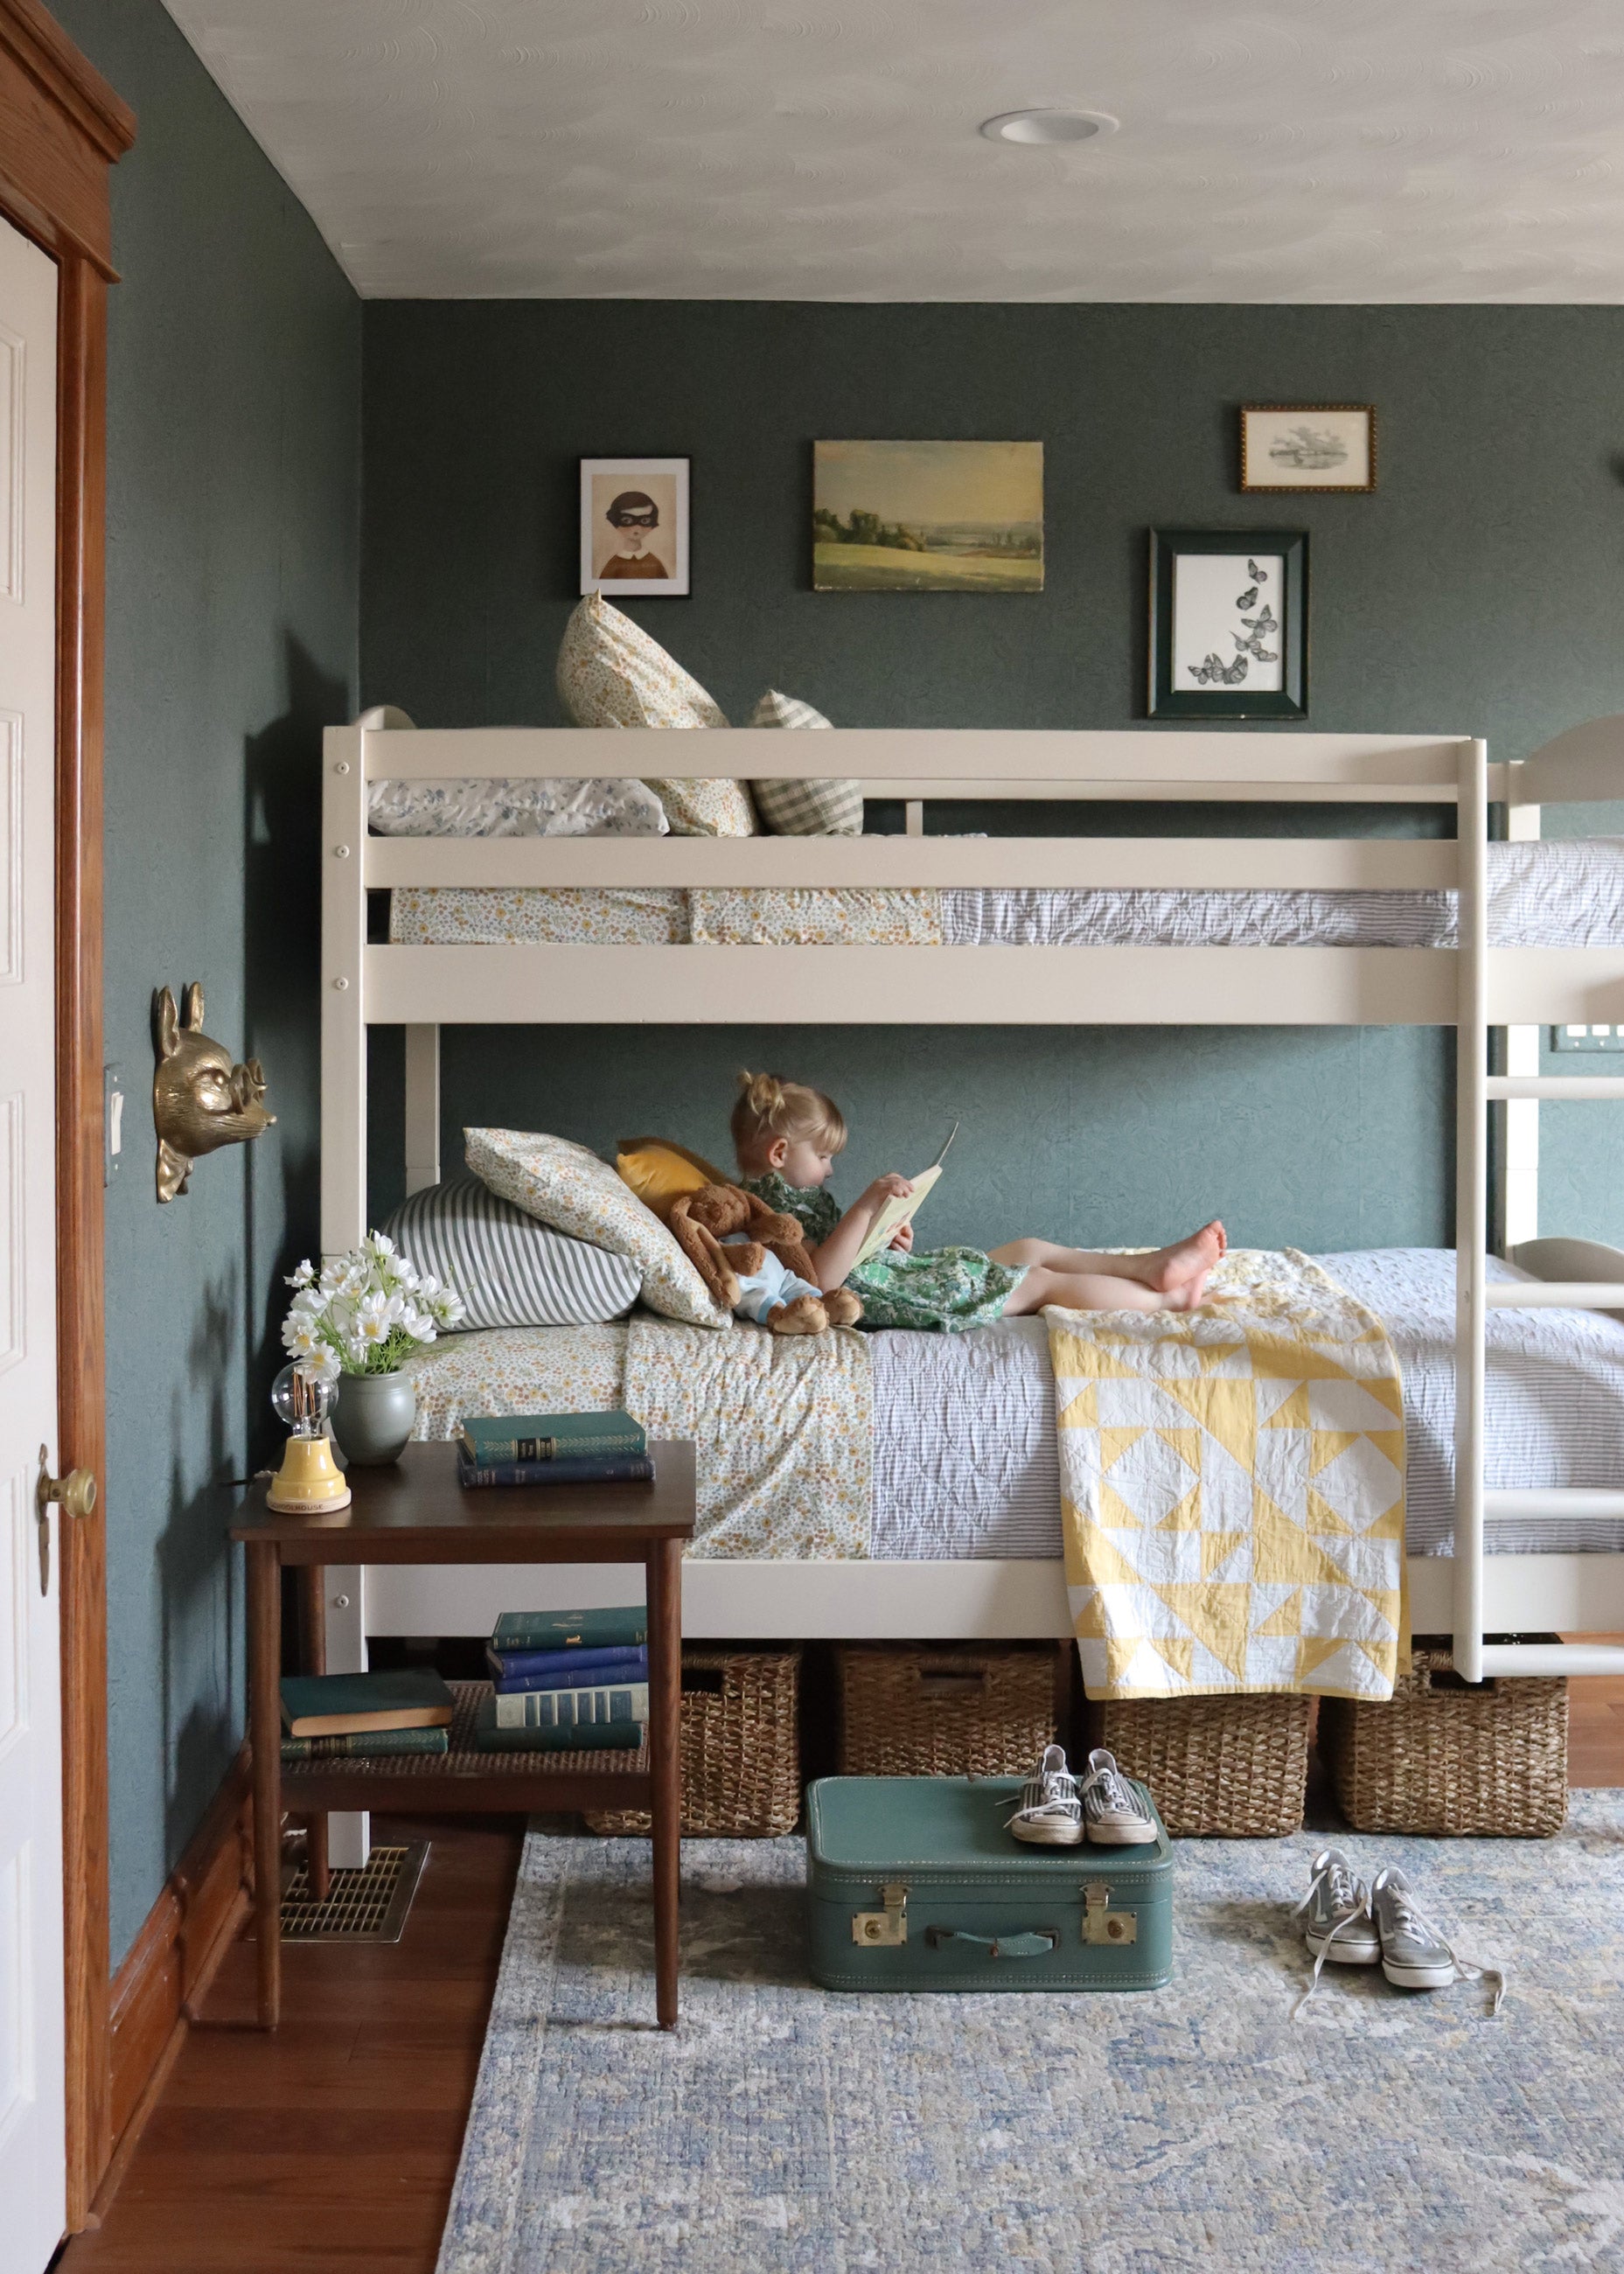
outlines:
[[[366, 732], [330, 725], [321, 750], [321, 1253], [366, 1235]], [[321, 1574], [328, 1671], [366, 1667], [359, 1567]], [[359, 1869], [364, 1815], [330, 1817], [330, 1860]]]

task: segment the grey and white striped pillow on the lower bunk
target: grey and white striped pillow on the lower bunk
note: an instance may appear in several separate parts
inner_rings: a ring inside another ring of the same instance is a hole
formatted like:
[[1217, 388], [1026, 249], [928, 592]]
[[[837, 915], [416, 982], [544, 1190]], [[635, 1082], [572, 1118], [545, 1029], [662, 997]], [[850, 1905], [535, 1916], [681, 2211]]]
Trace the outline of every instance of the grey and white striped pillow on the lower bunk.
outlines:
[[450, 1280], [475, 1326], [587, 1326], [619, 1319], [637, 1301], [639, 1271], [585, 1239], [553, 1233], [478, 1176], [428, 1185], [384, 1230], [419, 1271]]

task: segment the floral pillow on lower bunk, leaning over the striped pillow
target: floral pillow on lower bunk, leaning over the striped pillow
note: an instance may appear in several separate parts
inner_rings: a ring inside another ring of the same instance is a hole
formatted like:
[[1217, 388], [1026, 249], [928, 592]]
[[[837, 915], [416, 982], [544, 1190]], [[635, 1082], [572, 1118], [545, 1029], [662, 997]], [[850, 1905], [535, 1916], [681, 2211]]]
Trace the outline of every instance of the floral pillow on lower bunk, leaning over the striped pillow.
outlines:
[[730, 1326], [705, 1280], [614, 1169], [569, 1137], [532, 1130], [464, 1130], [466, 1162], [500, 1201], [571, 1239], [625, 1255], [641, 1276], [644, 1303], [685, 1326]]

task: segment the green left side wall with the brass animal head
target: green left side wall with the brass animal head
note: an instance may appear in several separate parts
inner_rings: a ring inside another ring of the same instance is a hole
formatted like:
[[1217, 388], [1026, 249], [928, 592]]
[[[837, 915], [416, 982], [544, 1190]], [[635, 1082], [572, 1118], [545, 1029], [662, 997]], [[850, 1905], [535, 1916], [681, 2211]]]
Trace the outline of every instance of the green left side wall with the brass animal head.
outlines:
[[[321, 728], [355, 691], [359, 302], [157, 0], [55, 0], [139, 114], [114, 171], [107, 1194], [114, 1962], [241, 1737], [225, 1542], [316, 1237]], [[202, 980], [277, 1126], [152, 1194], [150, 994]]]

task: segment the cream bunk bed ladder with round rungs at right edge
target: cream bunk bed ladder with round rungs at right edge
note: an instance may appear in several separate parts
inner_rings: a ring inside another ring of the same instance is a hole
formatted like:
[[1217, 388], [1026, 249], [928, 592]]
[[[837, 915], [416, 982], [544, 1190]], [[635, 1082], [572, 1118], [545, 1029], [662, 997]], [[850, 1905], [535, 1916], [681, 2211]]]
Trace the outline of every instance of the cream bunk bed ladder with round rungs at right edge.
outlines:
[[1624, 1674], [1624, 1646], [1604, 1642], [1485, 1642], [1483, 1526], [1490, 1517], [1583, 1521], [1624, 1517], [1624, 1492], [1483, 1485], [1485, 1344], [1490, 1310], [1624, 1310], [1624, 1283], [1488, 1278], [1488, 1107], [1503, 1098], [1624, 1098], [1624, 1078], [1488, 1071], [1488, 744], [1460, 755], [1456, 1021], [1456, 1539], [1453, 1660], [1467, 1683], [1490, 1676]]

